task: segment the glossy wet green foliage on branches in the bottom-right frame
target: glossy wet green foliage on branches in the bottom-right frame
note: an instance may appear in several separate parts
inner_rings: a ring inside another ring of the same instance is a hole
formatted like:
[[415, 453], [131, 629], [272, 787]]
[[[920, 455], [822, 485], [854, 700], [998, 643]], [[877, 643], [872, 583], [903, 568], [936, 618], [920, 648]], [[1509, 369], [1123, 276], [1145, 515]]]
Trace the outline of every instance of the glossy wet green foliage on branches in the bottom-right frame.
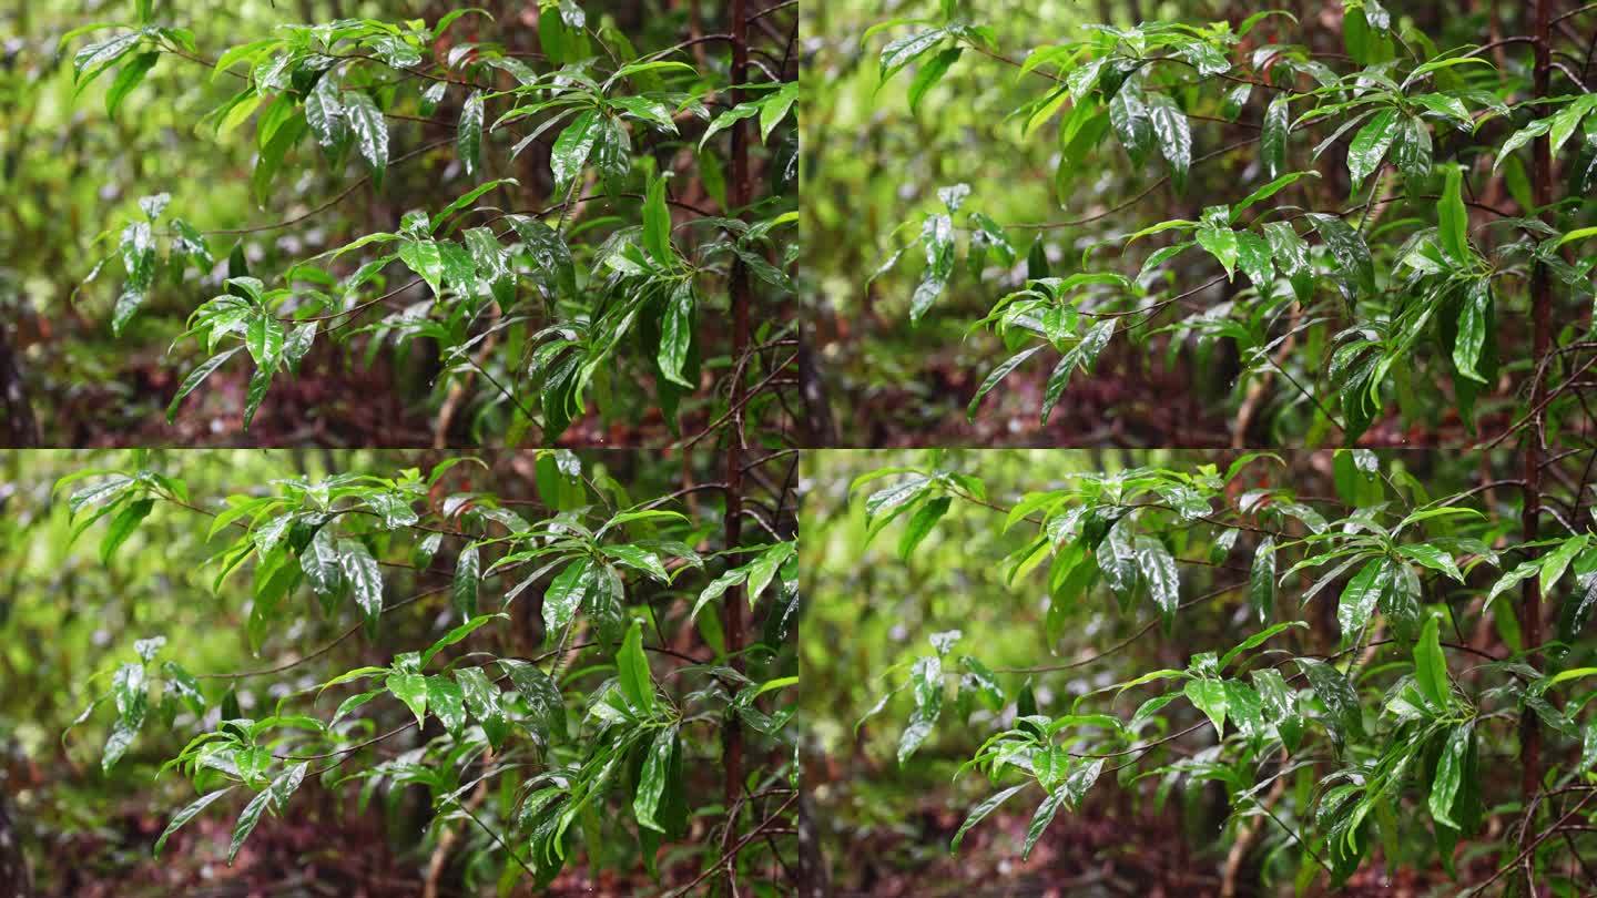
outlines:
[[[1014, 647], [993, 657], [992, 634], [933, 630], [960, 614], [933, 606], [915, 612], [926, 615], [931, 650], [893, 649], [909, 655], [883, 662], [867, 689], [880, 701], [861, 725], [905, 706], [894, 703], [901, 692], [913, 697], [894, 727], [902, 777], [941, 743], [969, 751], [955, 777], [990, 783], [969, 799], [952, 848], [1016, 796], [1035, 807], [1024, 842], [1009, 848], [1024, 858], [1112, 780], [1155, 807], [1185, 791], [1190, 810], [1203, 786], [1219, 785], [1222, 848], [1241, 840], [1238, 850], [1250, 850], [1255, 836], [1231, 823], [1265, 817], [1266, 885], [1340, 887], [1385, 863], [1445, 869], [1455, 890], [1490, 890], [1509, 872], [1524, 876], [1520, 864], [1555, 892], [1583, 888], [1571, 852], [1589, 845], [1554, 836], [1597, 813], [1583, 801], [1597, 693], [1573, 685], [1592, 673], [1597, 650], [1584, 617], [1597, 551], [1584, 529], [1549, 511], [1527, 540], [1517, 491], [1482, 499], [1500, 486], [1493, 468], [1512, 457], [1139, 454], [1060, 476], [1038, 470], [1049, 455], [1078, 454], [931, 452], [878, 470], [811, 468], [867, 532], [913, 535], [899, 564], [982, 585], [969, 601], [997, 604], [997, 626], [1014, 636], [1006, 641], [1032, 646], [1030, 658]], [[1589, 455], [1560, 470], [1578, 476]], [[1487, 489], [1460, 481], [1460, 468]], [[859, 476], [850, 484], [848, 473]], [[1549, 503], [1570, 500], [1551, 483], [1543, 489]], [[1584, 521], [1587, 502], [1570, 502]], [[931, 503], [939, 508], [926, 524], [918, 511]], [[952, 543], [985, 545], [985, 561], [961, 561], [939, 543], [942, 527], [955, 527]], [[827, 527], [813, 538], [824, 543]], [[824, 577], [837, 561], [818, 564], [821, 588], [835, 588]], [[1532, 580], [1563, 610], [1547, 612], [1560, 620], [1557, 636], [1527, 649], [1514, 602], [1501, 596]], [[1038, 591], [1046, 610], [1033, 626], [1024, 609]], [[843, 609], [882, 598], [821, 601]], [[1080, 636], [1116, 625], [1126, 639]], [[1169, 642], [1148, 646], [1159, 625]], [[1164, 666], [1175, 657], [1185, 663]], [[1100, 670], [1076, 673], [1088, 665]], [[1540, 730], [1536, 754], [1520, 741], [1524, 727]], [[1487, 764], [1488, 754], [1519, 762]], [[1540, 765], [1536, 802], [1519, 791], [1524, 764]], [[1549, 793], [1573, 801], [1549, 809]]]

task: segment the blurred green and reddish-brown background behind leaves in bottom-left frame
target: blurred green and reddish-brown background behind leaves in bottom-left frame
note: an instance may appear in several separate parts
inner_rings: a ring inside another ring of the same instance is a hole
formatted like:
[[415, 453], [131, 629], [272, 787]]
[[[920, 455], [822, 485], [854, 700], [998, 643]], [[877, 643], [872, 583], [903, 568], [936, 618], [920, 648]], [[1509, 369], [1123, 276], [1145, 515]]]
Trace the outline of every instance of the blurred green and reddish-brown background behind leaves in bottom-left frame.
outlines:
[[[284, 604], [259, 650], [246, 639], [252, 585], [235, 574], [212, 591], [214, 556], [227, 534], [208, 540], [209, 518], [157, 503], [150, 516], [109, 561], [101, 558], [107, 524], [72, 538], [67, 495], [81, 484], [54, 489], [59, 478], [93, 468], [133, 470], [144, 455], [149, 470], [187, 483], [192, 500], [206, 510], [222, 508], [227, 495], [273, 492], [278, 478], [323, 478], [361, 471], [394, 476], [402, 468], [431, 470], [450, 457], [431, 451], [29, 451], [0, 452], [0, 802], [10, 797], [13, 824], [32, 861], [38, 895], [417, 895], [430, 879], [433, 895], [493, 893], [498, 866], [489, 837], [471, 828], [460, 832], [454, 852], [444, 852], [439, 874], [430, 876], [438, 828], [425, 791], [394, 789], [356, 802], [355, 786], [305, 789], [291, 812], [265, 820], [238, 863], [224, 866], [235, 810], [201, 815], [152, 856], [150, 845], [172, 812], [193, 799], [184, 777], [161, 764], [174, 757], [203, 721], [179, 711], [161, 725], [155, 714], [129, 753], [109, 773], [101, 751], [115, 714], [101, 713], [72, 725], [96, 695], [107, 692], [118, 665], [134, 660], [134, 641], [161, 636], [163, 658], [201, 676], [214, 719], [224, 695], [233, 690], [244, 716], [262, 717], [273, 703], [359, 665], [386, 665], [393, 652], [425, 647], [452, 626], [449, 577], [386, 569], [390, 602], [436, 590], [426, 601], [385, 614], [375, 639], [345, 639], [315, 663], [281, 674], [244, 679], [204, 679], [206, 674], [259, 671], [305, 658], [350, 625], [347, 607], [324, 614], [302, 596]], [[680, 487], [684, 478], [706, 483], [719, 470], [714, 454], [652, 457], [639, 452], [578, 452], [591, 489], [612, 502], [642, 502]], [[511, 503], [537, 503], [533, 452], [485, 454], [485, 467], [457, 465], [431, 497], [484, 491]], [[717, 495], [717, 494], [709, 494]], [[672, 505], [715, 521], [720, 500], [688, 494]], [[525, 511], [532, 515], [532, 511]], [[81, 521], [81, 518], [80, 518]], [[297, 602], [297, 604], [295, 604]], [[541, 622], [529, 599], [514, 606], [513, 622], [485, 628], [462, 647], [505, 657], [527, 657], [537, 646]], [[529, 633], [533, 633], [529, 636]], [[692, 626], [671, 636], [692, 641]], [[608, 668], [613, 674], [613, 668]], [[578, 665], [567, 687], [592, 689], [612, 674]], [[391, 705], [391, 706], [390, 706]], [[331, 701], [318, 705], [327, 714]], [[398, 703], [374, 703], [361, 711], [385, 729], [407, 719]], [[573, 711], [575, 714], [575, 711]], [[214, 721], [212, 721], [214, 724]], [[69, 732], [70, 727], [70, 732]], [[398, 745], [385, 751], [414, 748]], [[754, 749], [751, 748], [751, 753]], [[720, 791], [719, 745], [709, 740], [690, 761], [688, 777], [698, 796]], [[353, 756], [351, 756], [353, 757]], [[359, 765], [350, 765], [353, 772]], [[236, 802], [233, 802], [236, 804]], [[217, 807], [230, 807], [222, 802]], [[5, 809], [0, 809], [5, 810]], [[704, 852], [719, 850], [711, 844]], [[690, 845], [668, 845], [661, 869], [687, 863]], [[525, 885], [521, 892], [525, 893]], [[628, 840], [608, 844], [602, 856], [583, 855], [549, 893], [634, 895], [655, 890], [637, 864]], [[3, 893], [3, 890], [0, 890]]]

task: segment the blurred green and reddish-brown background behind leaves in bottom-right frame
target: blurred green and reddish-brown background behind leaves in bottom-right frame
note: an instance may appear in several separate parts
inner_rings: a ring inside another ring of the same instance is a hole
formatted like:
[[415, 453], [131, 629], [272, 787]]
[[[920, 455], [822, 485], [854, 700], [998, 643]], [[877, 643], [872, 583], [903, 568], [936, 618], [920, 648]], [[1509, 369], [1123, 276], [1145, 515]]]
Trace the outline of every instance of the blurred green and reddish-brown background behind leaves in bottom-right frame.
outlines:
[[[1429, 451], [1377, 451], [1385, 499], [1423, 502], [1511, 476], [1511, 454], [1464, 455]], [[926, 465], [971, 475], [985, 483], [987, 499], [1008, 508], [1027, 492], [1056, 489], [1078, 473], [1113, 473], [1131, 467], [1191, 471], [1214, 463], [1219, 471], [1238, 454], [1219, 451], [834, 451], [810, 454], [803, 470], [800, 570], [811, 602], [800, 658], [805, 676], [806, 788], [816, 807], [830, 885], [840, 895], [1215, 895], [1234, 829], [1226, 824], [1225, 791], [1179, 789], [1163, 807], [1148, 789], [1112, 785], [1108, 777], [1080, 813], [1060, 813], [1030, 860], [1020, 860], [1032, 815], [1028, 801], [1006, 804], [965, 836], [958, 855], [949, 839], [973, 805], [995, 789], [977, 772], [955, 777], [982, 740], [1014, 714], [1014, 703], [992, 711], [981, 703], [952, 703], [929, 738], [899, 764], [899, 737], [913, 708], [912, 690], [899, 690], [875, 716], [867, 713], [907, 681], [910, 663], [929, 654], [934, 633], [958, 631], [949, 655], [973, 655], [998, 673], [1014, 693], [1030, 681], [1040, 713], [1064, 714], [1073, 697], [1158, 668], [1183, 668], [1195, 652], [1226, 650], [1258, 626], [1244, 590], [1231, 590], [1199, 607], [1185, 609], [1174, 633], [1159, 626], [1139, 633], [1156, 615], [1147, 599], [1123, 609], [1097, 588], [1091, 601], [1067, 610], [1060, 639], [1044, 634], [1048, 578], [1041, 570], [1008, 580], [1008, 556], [1028, 543], [1027, 526], [1003, 532], [1005, 513], [955, 502], [909, 556], [898, 542], [904, 521], [867, 542], [866, 495], [893, 481], [856, 491], [861, 475], [899, 465]], [[1298, 499], [1335, 502], [1333, 454], [1279, 452], [1284, 463], [1254, 462], [1228, 486], [1234, 502], [1249, 489], [1287, 487]], [[1576, 471], [1578, 473], [1578, 471]], [[1512, 534], [1519, 492], [1487, 489], [1482, 507], [1493, 515], [1484, 529]], [[1324, 507], [1324, 505], [1322, 505]], [[1206, 529], [1193, 527], [1183, 558], [1204, 558]], [[1193, 601], [1220, 585], [1246, 582], [1254, 538], [1246, 535], [1222, 567], [1183, 567], [1180, 596]], [[1012, 559], [1009, 559], [1012, 561]], [[1048, 567], [1046, 564], [1043, 566]], [[1335, 646], [1335, 596], [1300, 606], [1308, 574], [1289, 580], [1282, 618], [1313, 622], [1310, 644]], [[1311, 577], [1310, 577], [1311, 578]], [[1490, 583], [1490, 580], [1485, 580]], [[1496, 607], [1498, 625], [1512, 628], [1511, 602]], [[1469, 639], [1495, 644], [1503, 634], [1485, 623]], [[1512, 639], [1512, 633], [1508, 634]], [[1127, 642], [1129, 639], [1129, 642]], [[1124, 642], [1124, 646], [1123, 646]], [[1102, 660], [1096, 655], [1105, 654]], [[1028, 668], [1086, 662], [1072, 670], [1022, 674]], [[969, 695], [971, 690], [960, 690]], [[1112, 713], [1129, 716], [1140, 698], [1126, 697]], [[1099, 708], [1102, 709], [1102, 708]], [[1110, 713], [1110, 711], [1105, 711]], [[858, 729], [856, 729], [858, 725]], [[1172, 727], [1174, 729], [1174, 727]], [[1503, 764], [1514, 764], [1512, 748]], [[1151, 767], [1151, 765], [1147, 765]], [[1516, 775], [1517, 777], [1517, 775]], [[1509, 783], [1514, 777], [1503, 777]], [[1511, 788], [1511, 786], [1504, 786]], [[1284, 813], [1284, 812], [1282, 812]], [[995, 823], [997, 821], [997, 823]], [[1286, 842], [1266, 826], [1260, 855]], [[1488, 858], [1490, 860], [1490, 858]], [[1274, 895], [1257, 871], [1242, 868], [1239, 895]], [[1490, 869], [1490, 868], [1488, 868]], [[1404, 879], [1378, 868], [1361, 872], [1345, 895], [1452, 893], [1437, 871], [1404, 869]], [[1279, 871], [1278, 871], [1279, 876]], [[1286, 872], [1290, 893], [1292, 872]], [[1440, 892], [1431, 892], [1440, 888]]]

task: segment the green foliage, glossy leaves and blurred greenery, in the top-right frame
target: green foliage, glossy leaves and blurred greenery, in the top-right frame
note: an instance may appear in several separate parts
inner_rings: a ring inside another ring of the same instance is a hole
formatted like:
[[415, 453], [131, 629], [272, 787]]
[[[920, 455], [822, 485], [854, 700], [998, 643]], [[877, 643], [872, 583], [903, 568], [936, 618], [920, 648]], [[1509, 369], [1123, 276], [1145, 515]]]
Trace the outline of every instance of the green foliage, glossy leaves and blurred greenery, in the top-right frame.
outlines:
[[[1576, 69], [1538, 69], [1532, 6], [1498, 21], [1520, 37], [1492, 48], [1479, 46], [1479, 21], [1425, 6], [1349, 3], [1340, 34], [1238, 3], [1081, 29], [1075, 10], [1005, 24], [982, 3], [923, 6], [928, 16], [878, 21], [858, 42], [878, 59], [859, 78], [880, 91], [858, 128], [880, 147], [882, 177], [902, 181], [910, 152], [937, 160], [915, 168], [925, 187], [874, 209], [902, 225], [861, 228], [886, 259], [866, 284], [880, 315], [901, 321], [907, 307], [910, 324], [933, 331], [859, 337], [867, 374], [848, 385], [851, 401], [936, 382], [925, 360], [950, 364], [944, 353], [893, 350], [952, 352], [965, 329], [990, 334], [955, 363], [976, 363], [963, 388], [976, 390], [973, 423], [984, 403], [995, 425], [1001, 409], [1036, 407], [1030, 382], [1046, 377], [1046, 425], [1070, 372], [1107, 353], [1123, 380], [1163, 369], [1217, 420], [1234, 415], [1236, 431], [1212, 439], [1238, 446], [1393, 443], [1417, 428], [1463, 439], [1517, 433], [1530, 383], [1563, 385], [1583, 364], [1597, 256], [1567, 248], [1584, 246], [1575, 235], [1597, 213], [1597, 144], [1579, 137], [1597, 134], [1597, 97]], [[1555, 29], [1551, 53], [1579, 58], [1573, 37]], [[834, 64], [851, 70], [846, 56]], [[912, 80], [907, 104], [901, 80]], [[846, 89], [826, 94], [821, 120], [851, 102]], [[901, 105], [913, 125], [891, 118]], [[826, 190], [862, 192], [824, 165], [816, 166]], [[1546, 198], [1532, 197], [1538, 181]], [[1014, 251], [990, 256], [993, 244], [1020, 248], [1027, 265]], [[822, 267], [829, 281], [848, 276]], [[1535, 294], [1543, 275], [1547, 292]], [[1535, 339], [1506, 326], [1538, 315], [1568, 326]], [[840, 331], [840, 352], [851, 339]], [[1584, 420], [1576, 393], [1555, 390], [1546, 414]]]

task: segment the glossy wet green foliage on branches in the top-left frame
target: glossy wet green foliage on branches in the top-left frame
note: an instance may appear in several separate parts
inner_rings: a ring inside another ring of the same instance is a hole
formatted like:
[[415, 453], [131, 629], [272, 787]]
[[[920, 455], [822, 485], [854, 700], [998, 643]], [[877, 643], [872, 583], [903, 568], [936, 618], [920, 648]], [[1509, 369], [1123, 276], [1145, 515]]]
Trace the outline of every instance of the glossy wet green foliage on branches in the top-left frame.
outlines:
[[[476, 439], [551, 444], [585, 420], [653, 441], [733, 417], [754, 435], [789, 427], [792, 353], [754, 347], [794, 340], [795, 66], [733, 70], [731, 42], [684, 43], [679, 14], [623, 26], [631, 8], [589, 6], [546, 3], [533, 32], [511, 27], [511, 6], [249, 22], [216, 50], [185, 27], [201, 16], [188, 5], [125, 6], [61, 35], [77, 93], [117, 72], [109, 115], [180, 107], [196, 118], [185, 134], [244, 144], [249, 193], [278, 217], [196, 227], [217, 221], [211, 197], [166, 174], [129, 189], [171, 190], [169, 211], [150, 197], [96, 241], [80, 288], [93, 297], [120, 267], [115, 336], [147, 340], [163, 313], [187, 315], [160, 339], [184, 366], [168, 420], [238, 375], [248, 430], [307, 358], [318, 377], [326, 360], [425, 358], [417, 393], [438, 427]], [[422, 139], [439, 129], [450, 139]], [[746, 184], [728, 190], [727, 169]], [[371, 214], [351, 219], [351, 197]], [[757, 304], [730, 296], [739, 270]], [[751, 305], [751, 332], [720, 326]]]

